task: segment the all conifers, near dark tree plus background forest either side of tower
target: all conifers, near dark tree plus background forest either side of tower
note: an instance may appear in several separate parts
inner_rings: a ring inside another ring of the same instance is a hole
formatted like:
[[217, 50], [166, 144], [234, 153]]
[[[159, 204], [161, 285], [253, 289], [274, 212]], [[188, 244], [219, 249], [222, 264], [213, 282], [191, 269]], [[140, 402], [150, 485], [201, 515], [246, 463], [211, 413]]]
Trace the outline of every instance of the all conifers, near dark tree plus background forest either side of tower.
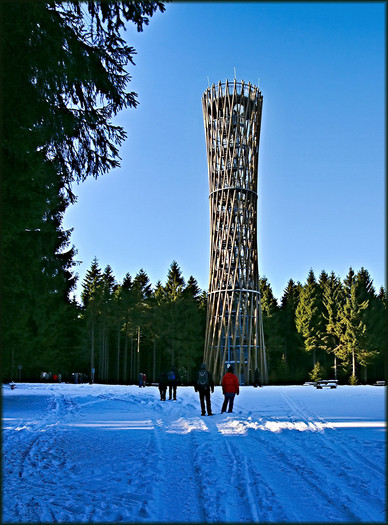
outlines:
[[[161, 2], [13, 3], [2, 23], [3, 381], [39, 381], [42, 371], [101, 383], [157, 381], [174, 363], [192, 381], [203, 360], [207, 294], [175, 261], [154, 287], [141, 269], [118, 282], [91, 262], [77, 286], [77, 249], [62, 228], [76, 183], [119, 165], [125, 131], [112, 124], [137, 106], [127, 91], [138, 31]], [[361, 268], [341, 281], [309, 272], [279, 303], [260, 278], [270, 384], [311, 378], [355, 384], [385, 379], [386, 292]]]

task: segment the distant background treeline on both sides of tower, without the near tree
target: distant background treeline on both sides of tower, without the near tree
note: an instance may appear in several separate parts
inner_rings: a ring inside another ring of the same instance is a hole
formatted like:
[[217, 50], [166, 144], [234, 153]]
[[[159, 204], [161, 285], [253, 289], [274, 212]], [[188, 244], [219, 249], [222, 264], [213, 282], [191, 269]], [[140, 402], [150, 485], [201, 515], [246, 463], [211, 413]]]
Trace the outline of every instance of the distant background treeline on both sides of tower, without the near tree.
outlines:
[[[312, 270], [301, 284], [290, 279], [279, 303], [260, 277], [269, 384], [311, 379], [373, 383], [385, 379], [386, 293], [376, 293], [364, 268], [341, 279]], [[68, 302], [51, 337], [43, 330], [18, 346], [6, 377], [37, 381], [41, 371], [83, 372], [98, 383], [137, 383], [139, 372], [158, 381], [175, 364], [190, 384], [203, 361], [207, 292], [193, 276], [185, 281], [173, 261], [154, 288], [141, 269], [118, 282], [95, 257], [82, 282], [81, 304]], [[94, 369], [94, 372], [92, 370]]]

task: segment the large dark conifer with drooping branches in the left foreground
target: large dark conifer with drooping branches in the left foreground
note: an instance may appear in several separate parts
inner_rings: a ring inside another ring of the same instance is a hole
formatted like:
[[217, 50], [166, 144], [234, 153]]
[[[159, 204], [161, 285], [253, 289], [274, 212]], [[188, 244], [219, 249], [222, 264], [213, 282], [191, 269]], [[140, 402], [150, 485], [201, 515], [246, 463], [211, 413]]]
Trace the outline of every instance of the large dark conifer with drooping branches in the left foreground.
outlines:
[[2, 2], [3, 370], [24, 379], [58, 369], [77, 348], [76, 249], [61, 227], [72, 184], [118, 166], [125, 138], [112, 118], [135, 50], [120, 31], [147, 25], [160, 2]]

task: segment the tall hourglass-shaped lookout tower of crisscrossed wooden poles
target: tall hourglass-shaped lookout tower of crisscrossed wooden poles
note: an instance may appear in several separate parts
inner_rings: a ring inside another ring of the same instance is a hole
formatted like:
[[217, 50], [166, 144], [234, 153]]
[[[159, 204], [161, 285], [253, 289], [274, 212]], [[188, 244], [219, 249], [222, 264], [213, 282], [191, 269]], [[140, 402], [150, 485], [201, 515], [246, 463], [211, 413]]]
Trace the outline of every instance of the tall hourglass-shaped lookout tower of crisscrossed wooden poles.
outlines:
[[263, 96], [245, 83], [202, 97], [211, 222], [204, 362], [220, 384], [233, 364], [240, 383], [259, 368], [268, 383], [257, 264], [257, 165]]

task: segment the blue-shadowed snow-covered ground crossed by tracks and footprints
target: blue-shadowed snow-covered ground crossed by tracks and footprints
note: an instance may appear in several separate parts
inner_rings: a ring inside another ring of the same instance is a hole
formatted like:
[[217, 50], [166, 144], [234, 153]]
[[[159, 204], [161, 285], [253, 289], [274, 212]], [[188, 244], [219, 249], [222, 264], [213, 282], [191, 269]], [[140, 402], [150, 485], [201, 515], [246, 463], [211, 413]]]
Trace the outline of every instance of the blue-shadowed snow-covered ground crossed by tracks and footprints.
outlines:
[[2, 388], [2, 522], [385, 522], [385, 387]]

